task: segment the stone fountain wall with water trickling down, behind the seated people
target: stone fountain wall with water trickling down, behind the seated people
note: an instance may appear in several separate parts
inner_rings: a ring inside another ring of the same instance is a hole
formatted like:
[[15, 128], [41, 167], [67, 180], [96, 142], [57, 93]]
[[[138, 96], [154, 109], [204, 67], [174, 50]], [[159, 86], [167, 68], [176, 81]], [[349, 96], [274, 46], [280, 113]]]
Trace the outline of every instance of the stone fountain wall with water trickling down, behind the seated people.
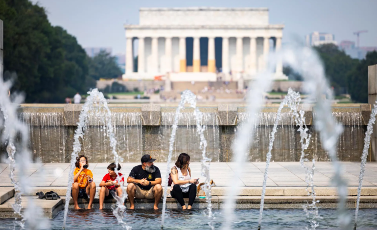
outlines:
[[[177, 105], [172, 104], [110, 104], [115, 134], [118, 140], [118, 153], [124, 162], [140, 162], [143, 154], [150, 154], [158, 161], [166, 161], [171, 124]], [[208, 141], [207, 154], [212, 161], [232, 161], [232, 142], [237, 127], [248, 119], [245, 105], [213, 104], [198, 105], [204, 113], [203, 124], [207, 126], [205, 136]], [[253, 146], [248, 153], [248, 161], [265, 161], [269, 134], [279, 104], [266, 105], [258, 114], [259, 123], [253, 137]], [[29, 147], [34, 161], [69, 162], [72, 152], [73, 135], [82, 104], [22, 104], [19, 117], [30, 127]], [[322, 149], [320, 137], [315, 132], [315, 107], [302, 105], [306, 112], [306, 124], [312, 134], [307, 158], [329, 161]], [[193, 109], [186, 108], [179, 120], [177, 138], [174, 145], [173, 161], [182, 152], [191, 156], [191, 161], [200, 161], [201, 150], [196, 135]], [[338, 142], [340, 161], [360, 161], [363, 138], [371, 108], [367, 104], [334, 105], [336, 120], [343, 124], [344, 132]], [[299, 161], [300, 134], [289, 114], [283, 109], [283, 119], [278, 127], [273, 161]], [[109, 140], [101, 126], [100, 117], [89, 117], [84, 130], [82, 154], [90, 162], [111, 162]], [[1, 148], [4, 161], [4, 146]], [[368, 161], [375, 161], [371, 154]]]

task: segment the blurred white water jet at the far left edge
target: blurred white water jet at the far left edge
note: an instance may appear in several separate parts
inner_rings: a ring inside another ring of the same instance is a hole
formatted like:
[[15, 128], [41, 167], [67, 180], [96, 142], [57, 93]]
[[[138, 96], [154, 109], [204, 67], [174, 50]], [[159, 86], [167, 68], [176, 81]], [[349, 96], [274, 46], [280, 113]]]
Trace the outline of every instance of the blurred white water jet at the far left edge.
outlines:
[[[8, 90], [11, 87], [10, 81], [3, 82], [2, 76], [0, 76], [0, 110], [3, 115], [4, 120], [0, 119], [0, 125], [3, 126], [1, 134], [1, 142], [8, 144], [6, 151], [8, 153], [8, 163], [9, 163], [9, 178], [11, 183], [14, 185], [14, 197], [15, 203], [12, 204], [12, 208], [15, 214], [21, 216], [21, 221], [17, 224], [24, 229], [25, 221], [28, 221], [28, 229], [40, 229], [42, 227], [47, 227], [48, 223], [45, 219], [35, 221], [35, 217], [38, 217], [42, 213], [41, 208], [36, 207], [32, 199], [28, 199], [27, 208], [22, 212], [22, 194], [25, 192], [30, 192], [30, 184], [27, 180], [28, 175], [27, 170], [31, 164], [30, 153], [27, 149], [27, 141], [29, 139], [28, 129], [17, 118], [18, 104], [23, 102], [23, 97], [21, 95], [11, 95], [8, 96]], [[19, 137], [17, 139], [17, 137]], [[17, 147], [16, 147], [17, 146]], [[17, 169], [18, 169], [18, 181], [16, 179], [16, 153], [17, 157]], [[16, 218], [17, 219], [17, 218]]]

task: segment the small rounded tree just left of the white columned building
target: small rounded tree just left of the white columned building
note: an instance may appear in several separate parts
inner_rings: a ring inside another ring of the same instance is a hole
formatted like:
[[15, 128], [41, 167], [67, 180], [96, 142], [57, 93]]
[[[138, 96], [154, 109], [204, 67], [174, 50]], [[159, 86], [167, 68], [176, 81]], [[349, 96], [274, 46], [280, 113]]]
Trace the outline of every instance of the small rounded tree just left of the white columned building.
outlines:
[[101, 50], [89, 63], [89, 75], [95, 79], [118, 78], [122, 71], [117, 65], [116, 58], [105, 50]]

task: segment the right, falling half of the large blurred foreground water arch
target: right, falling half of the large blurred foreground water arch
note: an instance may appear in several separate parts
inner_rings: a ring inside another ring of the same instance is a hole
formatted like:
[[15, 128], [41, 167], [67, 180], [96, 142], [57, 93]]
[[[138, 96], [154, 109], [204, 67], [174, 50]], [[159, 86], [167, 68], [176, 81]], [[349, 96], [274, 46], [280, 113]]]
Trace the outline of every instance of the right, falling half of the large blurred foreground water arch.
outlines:
[[310, 47], [285, 47], [279, 53], [279, 56], [283, 60], [283, 64], [292, 67], [304, 77], [304, 91], [308, 92], [311, 99], [316, 101], [317, 116], [314, 124], [316, 130], [319, 131], [323, 148], [329, 152], [335, 169], [333, 183], [337, 186], [339, 195], [339, 223], [343, 229], [350, 229], [351, 218], [345, 212], [347, 183], [341, 176], [341, 165], [336, 156], [336, 143], [342, 133], [342, 127], [335, 122], [334, 117], [331, 115], [331, 100], [333, 96], [325, 77], [323, 65], [318, 54]]

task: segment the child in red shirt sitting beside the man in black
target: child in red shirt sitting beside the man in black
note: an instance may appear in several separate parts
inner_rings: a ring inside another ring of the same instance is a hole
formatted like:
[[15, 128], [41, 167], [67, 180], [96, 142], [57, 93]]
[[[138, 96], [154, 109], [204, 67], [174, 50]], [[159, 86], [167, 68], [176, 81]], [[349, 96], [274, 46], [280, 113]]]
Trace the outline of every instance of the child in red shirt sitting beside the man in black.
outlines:
[[[101, 187], [101, 190], [99, 190], [99, 209], [103, 209], [103, 202], [107, 199], [113, 199], [116, 195], [119, 197], [122, 196], [122, 188], [120, 187], [120, 183], [123, 182], [124, 184], [124, 178], [121, 173], [119, 174], [120, 182], [117, 180], [117, 173], [115, 172], [115, 168], [117, 165], [115, 163], [109, 164], [107, 166], [107, 171], [109, 172], [106, 174], [99, 186]], [[118, 164], [118, 171], [120, 170], [120, 164]]]

